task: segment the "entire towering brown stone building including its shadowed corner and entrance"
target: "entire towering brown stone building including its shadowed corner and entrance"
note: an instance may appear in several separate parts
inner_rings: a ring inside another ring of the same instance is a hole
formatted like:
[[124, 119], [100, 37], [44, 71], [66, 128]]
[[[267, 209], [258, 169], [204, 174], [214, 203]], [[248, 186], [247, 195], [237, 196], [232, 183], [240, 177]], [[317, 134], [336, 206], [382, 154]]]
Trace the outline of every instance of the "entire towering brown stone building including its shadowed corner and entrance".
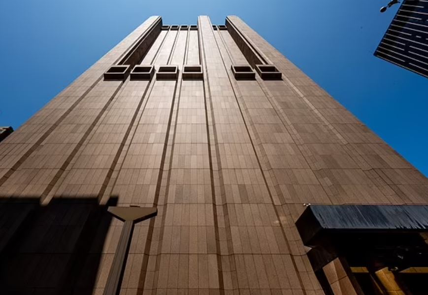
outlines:
[[236, 16], [150, 17], [0, 158], [1, 294], [427, 292], [427, 178]]

